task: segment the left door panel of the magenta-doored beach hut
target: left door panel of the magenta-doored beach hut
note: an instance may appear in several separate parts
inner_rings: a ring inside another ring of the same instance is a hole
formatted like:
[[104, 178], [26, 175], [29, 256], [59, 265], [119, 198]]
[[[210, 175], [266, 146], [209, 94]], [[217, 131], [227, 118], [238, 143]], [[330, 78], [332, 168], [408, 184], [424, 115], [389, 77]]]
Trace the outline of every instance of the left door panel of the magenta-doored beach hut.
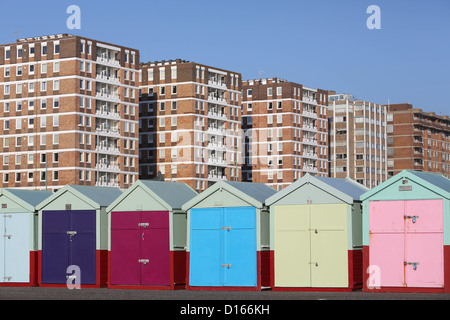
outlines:
[[111, 214], [111, 284], [140, 285], [141, 212]]

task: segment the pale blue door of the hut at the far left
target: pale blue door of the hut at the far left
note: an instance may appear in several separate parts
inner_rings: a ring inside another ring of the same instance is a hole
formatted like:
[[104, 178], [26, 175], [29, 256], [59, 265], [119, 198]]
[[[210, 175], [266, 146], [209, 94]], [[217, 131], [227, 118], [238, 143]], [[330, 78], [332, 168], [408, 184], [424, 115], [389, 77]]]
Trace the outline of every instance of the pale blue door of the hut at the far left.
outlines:
[[30, 214], [4, 214], [3, 282], [30, 281]]

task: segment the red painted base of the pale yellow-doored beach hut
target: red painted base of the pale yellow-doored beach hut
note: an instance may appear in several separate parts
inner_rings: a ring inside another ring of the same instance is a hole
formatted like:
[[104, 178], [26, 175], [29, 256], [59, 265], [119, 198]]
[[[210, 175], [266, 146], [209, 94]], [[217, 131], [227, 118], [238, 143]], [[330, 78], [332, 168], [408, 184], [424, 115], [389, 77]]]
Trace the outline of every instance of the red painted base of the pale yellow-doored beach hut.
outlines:
[[352, 292], [362, 288], [362, 250], [348, 250], [348, 287], [276, 287], [275, 286], [275, 252], [270, 251], [270, 286], [273, 291], [311, 291], [311, 292]]

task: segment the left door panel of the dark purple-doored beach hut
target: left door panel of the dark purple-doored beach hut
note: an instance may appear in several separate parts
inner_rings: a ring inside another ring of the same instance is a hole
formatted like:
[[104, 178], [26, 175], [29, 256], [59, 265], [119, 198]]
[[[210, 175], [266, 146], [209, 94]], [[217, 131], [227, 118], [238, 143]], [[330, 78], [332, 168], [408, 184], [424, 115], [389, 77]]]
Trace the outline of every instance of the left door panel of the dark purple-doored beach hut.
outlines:
[[42, 215], [42, 283], [66, 283], [69, 265], [68, 211]]

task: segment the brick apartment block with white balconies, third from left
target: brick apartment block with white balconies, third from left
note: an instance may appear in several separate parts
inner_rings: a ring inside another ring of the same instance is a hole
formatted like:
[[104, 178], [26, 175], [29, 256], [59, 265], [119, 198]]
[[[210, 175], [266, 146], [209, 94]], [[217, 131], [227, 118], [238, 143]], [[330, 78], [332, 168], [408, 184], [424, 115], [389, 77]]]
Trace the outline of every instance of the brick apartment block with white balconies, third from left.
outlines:
[[328, 176], [328, 92], [278, 78], [243, 82], [243, 180], [280, 190]]

